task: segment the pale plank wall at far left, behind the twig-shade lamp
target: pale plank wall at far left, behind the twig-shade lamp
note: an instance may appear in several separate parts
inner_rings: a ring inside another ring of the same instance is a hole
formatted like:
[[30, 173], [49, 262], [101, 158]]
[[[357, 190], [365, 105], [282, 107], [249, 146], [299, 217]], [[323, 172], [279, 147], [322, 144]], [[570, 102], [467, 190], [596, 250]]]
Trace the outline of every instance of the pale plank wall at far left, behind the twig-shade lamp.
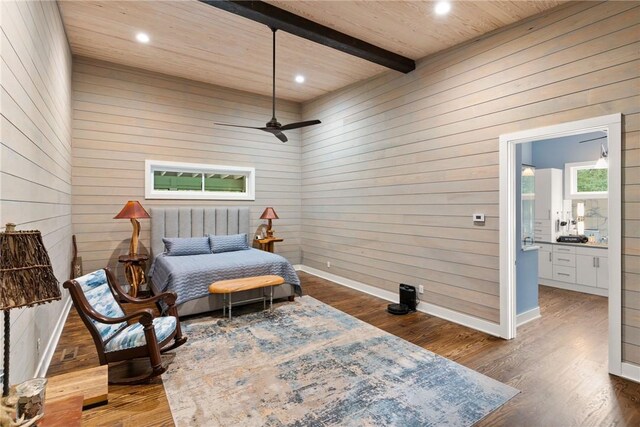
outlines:
[[[71, 52], [55, 2], [0, 8], [0, 224], [40, 230], [62, 282], [71, 260]], [[11, 383], [33, 377], [62, 308], [11, 311]]]

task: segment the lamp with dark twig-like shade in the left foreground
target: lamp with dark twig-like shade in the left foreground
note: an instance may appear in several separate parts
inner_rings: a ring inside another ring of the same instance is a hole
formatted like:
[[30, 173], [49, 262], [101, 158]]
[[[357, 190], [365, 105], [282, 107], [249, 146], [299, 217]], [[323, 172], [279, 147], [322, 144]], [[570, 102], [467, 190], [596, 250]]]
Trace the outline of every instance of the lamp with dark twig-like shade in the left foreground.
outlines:
[[58, 279], [53, 274], [40, 232], [16, 231], [15, 224], [7, 224], [5, 232], [0, 233], [0, 310], [4, 311], [3, 396], [9, 394], [9, 310], [60, 298]]

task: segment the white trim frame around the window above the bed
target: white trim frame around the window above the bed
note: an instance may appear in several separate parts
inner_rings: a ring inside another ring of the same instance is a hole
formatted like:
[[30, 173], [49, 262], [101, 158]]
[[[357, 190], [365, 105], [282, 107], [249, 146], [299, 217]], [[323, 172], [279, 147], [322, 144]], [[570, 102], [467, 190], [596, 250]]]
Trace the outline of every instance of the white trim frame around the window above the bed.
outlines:
[[[226, 191], [157, 191], [153, 189], [153, 173], [156, 170], [198, 173], [225, 173], [247, 177], [247, 191], [242, 193]], [[145, 199], [176, 200], [255, 200], [256, 169], [243, 166], [209, 165], [206, 163], [168, 162], [162, 160], [144, 161], [144, 197]]]

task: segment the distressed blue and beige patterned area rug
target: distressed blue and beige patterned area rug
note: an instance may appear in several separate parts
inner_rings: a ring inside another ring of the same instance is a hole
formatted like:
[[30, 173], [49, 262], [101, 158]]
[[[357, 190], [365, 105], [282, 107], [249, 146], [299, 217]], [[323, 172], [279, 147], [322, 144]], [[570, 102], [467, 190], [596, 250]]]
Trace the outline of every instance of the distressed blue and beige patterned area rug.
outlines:
[[178, 426], [468, 426], [518, 393], [309, 296], [183, 325]]

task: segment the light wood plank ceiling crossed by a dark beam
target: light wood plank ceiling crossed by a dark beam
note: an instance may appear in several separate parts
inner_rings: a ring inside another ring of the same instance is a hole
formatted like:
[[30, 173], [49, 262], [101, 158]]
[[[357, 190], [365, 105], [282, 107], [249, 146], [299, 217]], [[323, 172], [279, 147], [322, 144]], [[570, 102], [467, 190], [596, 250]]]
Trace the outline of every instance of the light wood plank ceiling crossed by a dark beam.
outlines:
[[[75, 55], [270, 96], [271, 31], [196, 0], [59, 0]], [[420, 59], [519, 21], [558, 1], [270, 1], [312, 21]], [[137, 32], [151, 41], [135, 41]], [[386, 71], [384, 67], [278, 32], [277, 96], [307, 101]], [[306, 82], [294, 82], [302, 74]]]

